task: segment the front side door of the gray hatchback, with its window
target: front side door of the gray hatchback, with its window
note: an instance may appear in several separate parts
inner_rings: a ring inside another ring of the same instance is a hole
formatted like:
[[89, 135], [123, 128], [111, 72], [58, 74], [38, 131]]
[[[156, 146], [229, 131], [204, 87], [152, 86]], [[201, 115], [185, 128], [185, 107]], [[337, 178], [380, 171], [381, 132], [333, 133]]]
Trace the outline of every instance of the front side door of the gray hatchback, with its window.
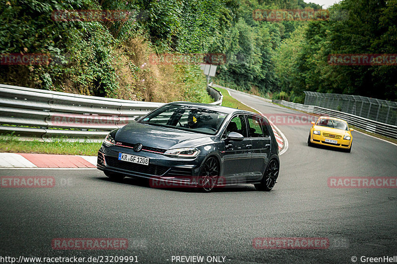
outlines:
[[[237, 132], [244, 136], [242, 141], [229, 141], [226, 139], [230, 132]], [[223, 176], [226, 183], [244, 182], [250, 169], [252, 143], [247, 138], [247, 125], [244, 114], [232, 117], [222, 136], [224, 144]]]

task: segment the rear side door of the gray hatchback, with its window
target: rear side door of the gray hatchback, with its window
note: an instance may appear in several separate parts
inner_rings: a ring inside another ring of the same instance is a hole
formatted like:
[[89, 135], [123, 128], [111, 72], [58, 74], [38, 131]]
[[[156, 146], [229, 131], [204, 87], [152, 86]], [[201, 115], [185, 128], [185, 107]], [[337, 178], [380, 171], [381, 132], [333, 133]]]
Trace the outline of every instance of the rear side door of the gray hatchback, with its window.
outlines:
[[252, 158], [247, 180], [257, 180], [262, 177], [265, 165], [270, 156], [270, 134], [266, 127], [266, 120], [262, 116], [246, 115], [248, 137], [252, 142]]

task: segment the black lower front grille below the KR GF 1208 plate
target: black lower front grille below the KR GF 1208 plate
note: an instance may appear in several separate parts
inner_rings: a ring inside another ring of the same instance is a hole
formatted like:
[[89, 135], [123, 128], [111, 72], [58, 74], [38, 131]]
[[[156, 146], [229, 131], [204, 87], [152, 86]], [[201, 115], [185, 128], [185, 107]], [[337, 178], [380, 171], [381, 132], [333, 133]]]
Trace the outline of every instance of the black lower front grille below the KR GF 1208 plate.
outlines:
[[169, 169], [169, 167], [166, 166], [153, 165], [150, 163], [149, 165], [136, 164], [128, 161], [122, 161], [113, 157], [106, 157], [106, 164], [115, 168], [156, 176], [163, 175]]

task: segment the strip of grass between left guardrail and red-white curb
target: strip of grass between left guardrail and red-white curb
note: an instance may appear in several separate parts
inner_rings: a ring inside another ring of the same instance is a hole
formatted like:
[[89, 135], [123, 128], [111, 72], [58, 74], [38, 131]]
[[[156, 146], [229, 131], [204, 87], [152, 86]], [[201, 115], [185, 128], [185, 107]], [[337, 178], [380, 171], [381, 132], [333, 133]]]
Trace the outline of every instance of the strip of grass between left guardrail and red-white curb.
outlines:
[[0, 137], [0, 152], [41, 153], [96, 156], [102, 143], [68, 142], [54, 139], [51, 142], [21, 141], [16, 136]]

